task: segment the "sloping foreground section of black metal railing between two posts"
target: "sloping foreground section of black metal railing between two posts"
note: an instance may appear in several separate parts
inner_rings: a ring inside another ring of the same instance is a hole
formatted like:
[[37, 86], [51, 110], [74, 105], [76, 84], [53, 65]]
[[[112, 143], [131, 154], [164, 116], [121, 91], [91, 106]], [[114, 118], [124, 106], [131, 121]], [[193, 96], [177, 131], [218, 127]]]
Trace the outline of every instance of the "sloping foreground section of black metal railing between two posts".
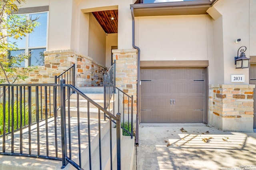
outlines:
[[[66, 89], [67, 88], [67, 89]], [[91, 139], [90, 139], [90, 104], [94, 105], [96, 108], [98, 108], [98, 137], [99, 137], [99, 163], [100, 163], [100, 167], [102, 167], [102, 159], [101, 159], [101, 150], [102, 150], [102, 145], [101, 145], [101, 128], [100, 128], [100, 122], [103, 121], [100, 119], [100, 114], [101, 112], [103, 112], [104, 114], [106, 114], [108, 116], [109, 119], [109, 124], [110, 124], [110, 166], [112, 169], [112, 121], [116, 122], [116, 152], [117, 152], [117, 170], [121, 169], [121, 145], [120, 145], [120, 113], [117, 113], [116, 116], [113, 115], [112, 113], [110, 113], [109, 111], [107, 111], [106, 109], [104, 109], [102, 106], [100, 106], [99, 104], [97, 104], [96, 102], [94, 102], [92, 99], [90, 99], [88, 96], [86, 96], [85, 94], [83, 94], [80, 90], [78, 90], [77, 88], [75, 88], [74, 86], [72, 86], [71, 84], [65, 84], [65, 80], [61, 80], [60, 81], [60, 98], [61, 98], [61, 107], [60, 107], [60, 111], [61, 111], [61, 131], [62, 131], [62, 137], [64, 137], [64, 140], [62, 141], [62, 168], [64, 168], [67, 163], [69, 162], [70, 164], [72, 164], [72, 166], [74, 166], [77, 169], [83, 169], [82, 168], [82, 156], [84, 154], [81, 154], [81, 137], [80, 137], [80, 106], [79, 106], [79, 102], [77, 102], [77, 123], [78, 123], [78, 130], [77, 130], [77, 139], [78, 139], [78, 147], [79, 147], [79, 154], [77, 155], [78, 160], [74, 160], [72, 158], [72, 136], [74, 134], [70, 133], [70, 96], [67, 95], [66, 96], [66, 91], [67, 93], [70, 92], [70, 90], [73, 90], [76, 93], [76, 99], [77, 101], [79, 101], [79, 98], [82, 97], [84, 99], [87, 100], [87, 127], [88, 127], [88, 149], [89, 149], [89, 153], [88, 153], [88, 157], [89, 157], [89, 169], [92, 169], [92, 152], [91, 152]], [[68, 107], [66, 107], [66, 102], [68, 103]], [[66, 115], [66, 111], [68, 112], [68, 115]], [[66, 124], [66, 118], [68, 118], [68, 124]], [[68, 125], [68, 134], [66, 131], [66, 125]], [[84, 129], [83, 129], [84, 130]], [[67, 149], [67, 135], [68, 135], [68, 144], [69, 144], [69, 149]], [[69, 151], [69, 156], [68, 156], [68, 152]], [[100, 168], [101, 169], [101, 168]]]

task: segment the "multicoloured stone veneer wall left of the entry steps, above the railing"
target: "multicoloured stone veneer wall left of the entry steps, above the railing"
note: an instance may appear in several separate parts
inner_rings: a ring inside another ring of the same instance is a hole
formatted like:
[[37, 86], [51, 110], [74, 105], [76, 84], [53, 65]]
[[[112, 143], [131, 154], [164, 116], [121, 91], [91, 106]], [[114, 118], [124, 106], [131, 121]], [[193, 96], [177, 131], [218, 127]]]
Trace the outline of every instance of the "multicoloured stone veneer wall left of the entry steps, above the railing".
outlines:
[[[54, 77], [76, 66], [76, 86], [103, 86], [106, 67], [96, 63], [90, 57], [84, 57], [73, 50], [46, 51], [45, 65], [27, 74], [25, 81], [18, 83], [54, 83]], [[22, 69], [22, 68], [20, 68]]]

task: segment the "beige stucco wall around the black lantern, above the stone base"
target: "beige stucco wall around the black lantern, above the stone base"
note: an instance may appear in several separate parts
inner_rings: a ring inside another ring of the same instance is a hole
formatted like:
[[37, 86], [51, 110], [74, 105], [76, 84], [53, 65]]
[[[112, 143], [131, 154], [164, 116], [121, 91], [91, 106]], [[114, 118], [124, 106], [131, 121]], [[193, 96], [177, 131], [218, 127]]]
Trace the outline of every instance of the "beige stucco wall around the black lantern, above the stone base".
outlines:
[[[212, 7], [214, 10], [208, 10], [208, 13], [214, 18], [212, 21], [214, 35], [218, 36], [214, 39], [214, 58], [215, 63], [217, 63], [216, 59], [220, 59], [218, 60], [220, 70], [216, 71], [221, 74], [216, 74], [216, 76], [220, 76], [215, 77], [214, 83], [216, 84], [232, 84], [231, 74], [244, 74], [245, 82], [241, 84], [249, 83], [249, 69], [235, 69], [234, 65], [234, 57], [237, 55], [239, 47], [246, 46], [246, 56], [249, 57], [251, 51], [249, 44], [250, 41], [254, 41], [253, 36], [249, 33], [249, 2], [250, 0], [220, 0]], [[214, 13], [219, 13], [220, 16], [214, 17]], [[255, 21], [252, 21], [252, 25], [253, 22]], [[236, 39], [241, 39], [241, 41], [235, 43]], [[224, 77], [222, 78], [222, 76]]]

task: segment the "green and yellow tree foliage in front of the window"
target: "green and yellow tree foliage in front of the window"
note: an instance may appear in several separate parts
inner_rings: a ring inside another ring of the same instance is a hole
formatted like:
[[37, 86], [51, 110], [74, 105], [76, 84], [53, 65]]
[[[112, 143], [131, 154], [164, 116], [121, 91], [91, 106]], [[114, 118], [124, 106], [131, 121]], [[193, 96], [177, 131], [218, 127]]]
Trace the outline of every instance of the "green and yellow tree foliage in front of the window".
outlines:
[[8, 58], [10, 51], [18, 50], [16, 42], [9, 42], [8, 37], [17, 41], [34, 31], [38, 25], [37, 19], [15, 15], [24, 0], [0, 0], [0, 83], [14, 83], [16, 80], [25, 80], [27, 73], [36, 67], [19, 68], [20, 63], [30, 57], [30, 54], [20, 54]]

